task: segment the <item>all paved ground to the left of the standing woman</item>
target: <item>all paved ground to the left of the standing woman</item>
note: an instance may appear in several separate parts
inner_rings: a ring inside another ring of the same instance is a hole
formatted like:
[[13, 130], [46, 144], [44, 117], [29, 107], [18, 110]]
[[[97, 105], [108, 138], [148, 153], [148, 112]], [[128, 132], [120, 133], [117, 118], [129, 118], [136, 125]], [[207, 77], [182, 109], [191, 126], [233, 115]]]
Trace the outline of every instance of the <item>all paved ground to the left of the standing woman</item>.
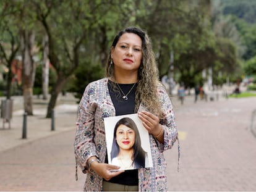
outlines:
[[59, 96], [51, 131], [51, 119], [45, 119], [48, 101], [35, 96], [26, 139], [22, 139], [23, 98], [12, 99], [11, 129], [8, 123], [4, 129], [0, 124], [0, 191], [81, 191], [85, 175], [79, 170], [75, 181], [73, 148], [77, 99], [72, 94]]

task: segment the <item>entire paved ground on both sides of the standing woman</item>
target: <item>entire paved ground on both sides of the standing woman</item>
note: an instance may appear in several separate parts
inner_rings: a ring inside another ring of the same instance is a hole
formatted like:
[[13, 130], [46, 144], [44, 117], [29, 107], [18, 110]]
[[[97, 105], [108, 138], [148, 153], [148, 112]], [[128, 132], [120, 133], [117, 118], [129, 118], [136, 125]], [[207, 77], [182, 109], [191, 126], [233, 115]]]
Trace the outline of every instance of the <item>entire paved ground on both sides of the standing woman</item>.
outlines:
[[[77, 104], [60, 96], [56, 130], [45, 119], [46, 102], [35, 99], [22, 140], [22, 99], [15, 98], [12, 128], [0, 126], [0, 191], [81, 191], [85, 175], [75, 181], [74, 134]], [[256, 191], [256, 138], [249, 130], [256, 98], [184, 104], [173, 98], [181, 143], [177, 172], [177, 143], [164, 152], [170, 191]], [[1, 125], [1, 124], [0, 124]]]

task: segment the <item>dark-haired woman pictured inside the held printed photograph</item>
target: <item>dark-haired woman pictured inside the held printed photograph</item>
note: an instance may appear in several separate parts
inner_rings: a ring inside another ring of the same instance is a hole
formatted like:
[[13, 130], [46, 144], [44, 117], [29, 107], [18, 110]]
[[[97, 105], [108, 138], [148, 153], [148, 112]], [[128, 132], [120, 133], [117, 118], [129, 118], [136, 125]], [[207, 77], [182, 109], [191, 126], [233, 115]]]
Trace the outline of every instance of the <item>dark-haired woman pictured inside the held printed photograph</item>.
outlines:
[[146, 154], [134, 120], [129, 117], [120, 119], [114, 127], [111, 164], [118, 165], [121, 170], [144, 168]]

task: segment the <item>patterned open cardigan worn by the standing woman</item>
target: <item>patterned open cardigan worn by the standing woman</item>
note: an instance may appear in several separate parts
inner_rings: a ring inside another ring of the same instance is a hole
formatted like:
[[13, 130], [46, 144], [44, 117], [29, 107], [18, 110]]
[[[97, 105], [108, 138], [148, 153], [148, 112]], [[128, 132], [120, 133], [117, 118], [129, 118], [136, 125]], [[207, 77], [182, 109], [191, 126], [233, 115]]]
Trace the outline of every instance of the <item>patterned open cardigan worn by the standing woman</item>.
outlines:
[[[164, 112], [164, 118], [160, 120], [164, 128], [164, 144], [150, 134], [153, 167], [139, 169], [139, 191], [168, 191], [163, 151], [172, 148], [178, 133], [171, 100], [161, 83], [158, 86], [158, 95]], [[140, 104], [139, 111], [142, 110], [145, 110], [145, 107]], [[104, 118], [114, 115], [115, 108], [108, 90], [108, 78], [90, 83], [80, 100], [74, 142], [76, 162], [82, 172], [87, 173], [85, 191], [103, 190], [103, 178], [93, 170], [89, 170], [86, 162], [91, 156], [98, 157], [102, 163], [105, 162]]]

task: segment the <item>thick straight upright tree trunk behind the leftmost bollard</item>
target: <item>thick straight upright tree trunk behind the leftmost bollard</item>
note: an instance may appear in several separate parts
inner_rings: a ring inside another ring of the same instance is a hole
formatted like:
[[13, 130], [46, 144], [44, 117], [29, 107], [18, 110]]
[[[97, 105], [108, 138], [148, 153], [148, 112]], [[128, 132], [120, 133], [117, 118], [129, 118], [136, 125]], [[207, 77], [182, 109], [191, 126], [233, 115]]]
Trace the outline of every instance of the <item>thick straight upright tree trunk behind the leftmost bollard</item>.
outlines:
[[35, 70], [32, 58], [32, 49], [35, 40], [35, 33], [21, 31], [20, 42], [22, 48], [22, 83], [24, 112], [33, 115], [33, 73]]

